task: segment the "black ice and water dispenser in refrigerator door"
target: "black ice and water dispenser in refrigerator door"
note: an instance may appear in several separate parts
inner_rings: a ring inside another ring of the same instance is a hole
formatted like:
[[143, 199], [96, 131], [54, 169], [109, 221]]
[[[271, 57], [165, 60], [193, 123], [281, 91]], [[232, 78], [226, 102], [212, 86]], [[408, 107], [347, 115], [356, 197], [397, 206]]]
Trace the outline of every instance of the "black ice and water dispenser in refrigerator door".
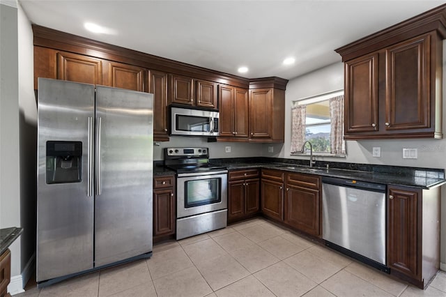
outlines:
[[47, 183], [82, 180], [82, 142], [47, 142]]

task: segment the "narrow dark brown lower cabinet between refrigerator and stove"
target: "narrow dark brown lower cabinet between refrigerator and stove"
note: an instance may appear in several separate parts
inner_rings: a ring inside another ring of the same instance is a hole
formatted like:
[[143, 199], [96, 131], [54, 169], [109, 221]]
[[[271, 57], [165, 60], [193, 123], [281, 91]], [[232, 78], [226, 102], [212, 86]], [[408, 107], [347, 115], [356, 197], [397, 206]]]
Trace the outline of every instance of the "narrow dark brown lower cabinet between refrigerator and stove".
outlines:
[[153, 241], [156, 241], [175, 234], [175, 177], [160, 176], [153, 180]]

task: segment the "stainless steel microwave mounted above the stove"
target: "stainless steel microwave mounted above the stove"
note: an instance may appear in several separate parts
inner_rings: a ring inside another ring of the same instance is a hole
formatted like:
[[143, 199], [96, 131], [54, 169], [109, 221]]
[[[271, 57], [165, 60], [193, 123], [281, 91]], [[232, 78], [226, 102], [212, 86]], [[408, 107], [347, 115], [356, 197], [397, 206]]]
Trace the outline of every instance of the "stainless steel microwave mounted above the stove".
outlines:
[[170, 135], [219, 135], [219, 112], [187, 107], [171, 107], [170, 111]]

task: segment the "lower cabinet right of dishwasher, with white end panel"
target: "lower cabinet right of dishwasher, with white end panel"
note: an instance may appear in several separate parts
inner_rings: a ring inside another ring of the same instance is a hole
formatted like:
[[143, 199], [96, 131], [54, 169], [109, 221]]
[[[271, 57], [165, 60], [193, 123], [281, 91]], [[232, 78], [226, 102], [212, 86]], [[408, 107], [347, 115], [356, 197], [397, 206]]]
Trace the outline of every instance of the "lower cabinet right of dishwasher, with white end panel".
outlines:
[[392, 185], [387, 194], [387, 266], [424, 288], [440, 263], [440, 187]]

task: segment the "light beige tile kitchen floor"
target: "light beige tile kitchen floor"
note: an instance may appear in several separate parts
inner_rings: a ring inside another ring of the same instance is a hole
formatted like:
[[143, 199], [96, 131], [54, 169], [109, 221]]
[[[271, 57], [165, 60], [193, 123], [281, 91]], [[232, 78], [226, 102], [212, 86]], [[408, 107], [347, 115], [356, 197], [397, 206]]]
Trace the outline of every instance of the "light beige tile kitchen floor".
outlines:
[[446, 296], [446, 273], [423, 291], [256, 218], [16, 296]]

